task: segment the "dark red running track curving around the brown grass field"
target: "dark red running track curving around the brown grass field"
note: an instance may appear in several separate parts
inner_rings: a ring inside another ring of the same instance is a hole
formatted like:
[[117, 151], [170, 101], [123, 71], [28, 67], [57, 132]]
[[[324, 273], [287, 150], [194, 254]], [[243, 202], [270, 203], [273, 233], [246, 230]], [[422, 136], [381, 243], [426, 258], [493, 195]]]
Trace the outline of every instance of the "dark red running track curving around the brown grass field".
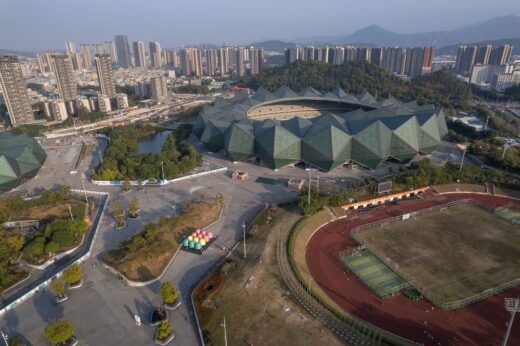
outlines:
[[[359, 225], [471, 198], [477, 204], [502, 206], [520, 201], [477, 194], [427, 194], [422, 199], [355, 211], [317, 231], [307, 245], [306, 261], [314, 280], [340, 306], [357, 317], [394, 334], [425, 345], [500, 345], [510, 314], [504, 298], [520, 297], [514, 287], [462, 309], [441, 311], [429, 301], [412, 302], [398, 295], [379, 299], [340, 261], [338, 253], [359, 244], [350, 231]], [[354, 217], [354, 218], [353, 218]], [[511, 330], [508, 345], [520, 345], [520, 320]]]

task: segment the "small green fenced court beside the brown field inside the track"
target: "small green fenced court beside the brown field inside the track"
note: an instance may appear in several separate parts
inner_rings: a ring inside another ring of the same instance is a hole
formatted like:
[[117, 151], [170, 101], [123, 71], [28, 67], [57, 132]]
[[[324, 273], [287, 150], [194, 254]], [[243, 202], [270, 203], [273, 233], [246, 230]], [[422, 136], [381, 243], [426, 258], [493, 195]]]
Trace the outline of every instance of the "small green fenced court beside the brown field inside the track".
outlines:
[[379, 297], [397, 293], [404, 281], [367, 250], [340, 257], [343, 263]]

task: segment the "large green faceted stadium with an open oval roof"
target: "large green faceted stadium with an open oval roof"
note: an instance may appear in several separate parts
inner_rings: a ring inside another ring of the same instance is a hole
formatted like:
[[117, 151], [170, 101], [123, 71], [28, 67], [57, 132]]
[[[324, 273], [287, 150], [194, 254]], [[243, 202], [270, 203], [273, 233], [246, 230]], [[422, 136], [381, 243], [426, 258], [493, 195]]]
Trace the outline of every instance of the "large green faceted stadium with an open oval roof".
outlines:
[[217, 99], [204, 106], [193, 132], [208, 150], [223, 149], [233, 161], [256, 157], [273, 169], [305, 162], [330, 171], [348, 162], [367, 168], [387, 159], [408, 162], [433, 152], [448, 129], [433, 105], [281, 87]]

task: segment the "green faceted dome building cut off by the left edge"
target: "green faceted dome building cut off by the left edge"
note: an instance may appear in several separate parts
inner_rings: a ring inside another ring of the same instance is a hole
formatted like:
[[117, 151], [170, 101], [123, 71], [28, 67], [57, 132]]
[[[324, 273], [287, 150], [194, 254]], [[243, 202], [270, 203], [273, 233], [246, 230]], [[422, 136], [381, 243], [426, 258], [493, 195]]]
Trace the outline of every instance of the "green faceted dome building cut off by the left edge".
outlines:
[[0, 133], [0, 190], [10, 190], [23, 180], [33, 178], [47, 154], [28, 135]]

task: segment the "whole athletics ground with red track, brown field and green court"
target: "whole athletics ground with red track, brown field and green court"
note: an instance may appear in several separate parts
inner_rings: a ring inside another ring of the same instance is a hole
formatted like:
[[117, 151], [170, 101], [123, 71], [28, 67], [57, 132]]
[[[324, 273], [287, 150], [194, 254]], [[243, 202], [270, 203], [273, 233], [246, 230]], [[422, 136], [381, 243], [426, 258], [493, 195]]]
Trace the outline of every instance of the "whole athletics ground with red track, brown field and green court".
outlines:
[[416, 343], [500, 344], [520, 295], [520, 202], [420, 190], [345, 205], [302, 240], [317, 294]]

